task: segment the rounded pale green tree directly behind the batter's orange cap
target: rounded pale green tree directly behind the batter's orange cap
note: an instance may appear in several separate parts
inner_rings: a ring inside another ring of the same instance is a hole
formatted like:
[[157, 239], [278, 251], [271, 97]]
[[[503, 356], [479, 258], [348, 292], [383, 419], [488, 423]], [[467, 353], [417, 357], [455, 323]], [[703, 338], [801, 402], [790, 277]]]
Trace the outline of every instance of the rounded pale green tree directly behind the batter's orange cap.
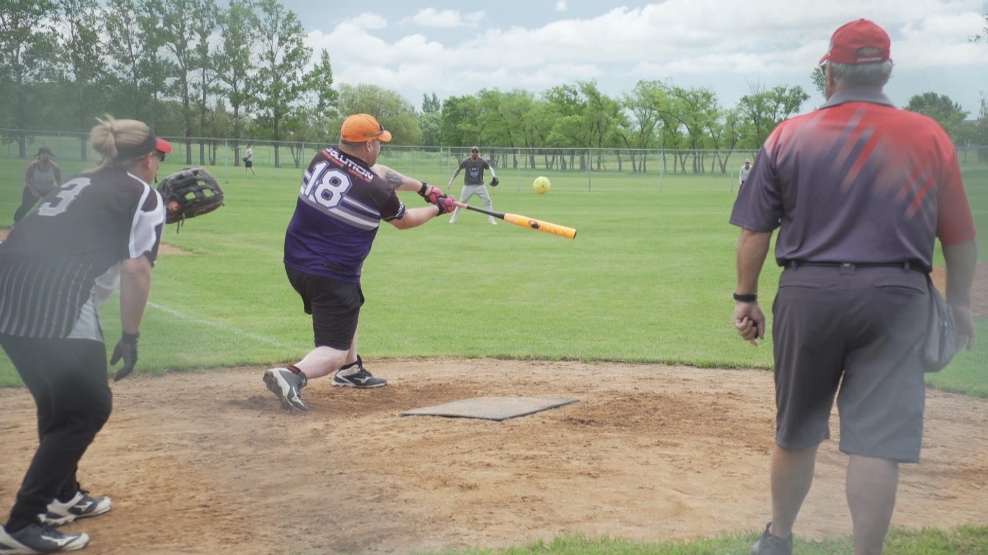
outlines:
[[415, 117], [415, 107], [395, 91], [376, 85], [340, 85], [340, 116], [334, 128], [343, 124], [342, 118], [353, 114], [370, 114], [391, 131], [394, 144], [421, 144], [422, 129]]

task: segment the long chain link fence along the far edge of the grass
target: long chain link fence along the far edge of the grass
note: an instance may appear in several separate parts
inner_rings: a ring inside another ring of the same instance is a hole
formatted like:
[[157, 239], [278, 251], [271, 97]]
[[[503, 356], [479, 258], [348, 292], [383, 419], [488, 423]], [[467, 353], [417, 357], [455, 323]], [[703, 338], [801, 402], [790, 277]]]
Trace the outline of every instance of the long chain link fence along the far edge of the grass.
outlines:
[[[247, 145], [254, 151], [255, 168], [303, 168], [318, 149], [332, 142], [272, 141], [228, 137], [162, 137], [172, 143], [173, 162], [212, 167], [213, 174], [228, 180], [244, 172]], [[30, 159], [41, 146], [47, 146], [57, 160], [92, 161], [99, 156], [87, 143], [88, 133], [72, 131], [18, 130], [0, 128], [0, 159]], [[643, 177], [660, 189], [668, 177], [705, 177], [721, 183], [724, 189], [737, 186], [738, 173], [745, 159], [752, 162], [756, 150], [685, 150], [629, 148], [514, 148], [480, 146], [480, 155], [490, 161], [499, 177], [518, 178], [518, 187], [528, 178], [541, 174], [586, 176], [593, 189], [595, 176], [625, 175]], [[398, 171], [417, 175], [452, 176], [460, 160], [470, 155], [468, 146], [386, 145], [380, 161]], [[961, 165], [984, 165], [988, 169], [988, 146], [957, 147]], [[222, 167], [223, 171], [218, 171]], [[523, 179], [524, 178], [524, 179]], [[580, 178], [582, 179], [582, 177]], [[719, 188], [719, 187], [718, 187]]]

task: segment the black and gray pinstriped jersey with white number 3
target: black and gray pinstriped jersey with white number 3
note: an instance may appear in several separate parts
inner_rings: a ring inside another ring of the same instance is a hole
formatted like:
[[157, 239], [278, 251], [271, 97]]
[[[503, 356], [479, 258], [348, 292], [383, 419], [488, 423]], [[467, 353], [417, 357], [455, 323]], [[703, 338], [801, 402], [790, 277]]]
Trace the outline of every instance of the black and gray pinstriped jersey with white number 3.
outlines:
[[0, 243], [0, 334], [102, 341], [96, 306], [121, 262], [154, 264], [164, 222], [161, 196], [137, 176], [73, 176]]

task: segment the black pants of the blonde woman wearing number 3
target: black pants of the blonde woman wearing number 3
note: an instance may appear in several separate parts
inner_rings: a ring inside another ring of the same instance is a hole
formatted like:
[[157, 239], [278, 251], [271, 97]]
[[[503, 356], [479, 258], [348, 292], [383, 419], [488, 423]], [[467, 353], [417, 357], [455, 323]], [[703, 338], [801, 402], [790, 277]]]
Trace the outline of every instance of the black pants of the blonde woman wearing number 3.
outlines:
[[48, 503], [78, 491], [79, 459], [113, 409], [102, 342], [0, 336], [0, 345], [38, 405], [35, 458], [24, 476], [7, 531], [38, 522]]

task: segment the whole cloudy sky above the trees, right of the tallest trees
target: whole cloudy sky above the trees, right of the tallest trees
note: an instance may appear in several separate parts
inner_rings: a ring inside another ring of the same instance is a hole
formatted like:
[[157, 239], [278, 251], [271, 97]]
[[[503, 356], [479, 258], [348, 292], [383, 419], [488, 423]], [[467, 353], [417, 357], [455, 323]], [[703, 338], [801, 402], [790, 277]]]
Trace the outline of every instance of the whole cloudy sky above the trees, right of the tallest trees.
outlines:
[[[397, 90], [416, 108], [481, 88], [540, 92], [596, 79], [612, 95], [640, 79], [707, 87], [733, 106], [754, 86], [801, 85], [841, 25], [867, 18], [892, 38], [886, 93], [905, 105], [947, 94], [972, 114], [988, 94], [988, 0], [574, 0], [312, 2], [284, 0], [337, 82]], [[316, 56], [317, 57], [317, 56]]]

